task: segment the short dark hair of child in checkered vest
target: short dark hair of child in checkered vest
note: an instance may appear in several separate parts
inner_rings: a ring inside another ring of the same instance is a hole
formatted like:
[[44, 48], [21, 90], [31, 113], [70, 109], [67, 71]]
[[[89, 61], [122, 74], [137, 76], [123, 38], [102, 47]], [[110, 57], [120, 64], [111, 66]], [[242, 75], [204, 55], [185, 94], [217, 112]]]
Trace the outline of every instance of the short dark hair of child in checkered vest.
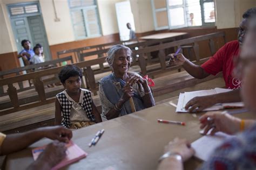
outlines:
[[65, 81], [69, 79], [69, 77], [79, 76], [82, 79], [83, 74], [82, 74], [82, 69], [80, 69], [76, 65], [66, 65], [65, 67], [62, 68], [62, 70], [60, 70], [58, 76], [59, 76], [60, 82], [64, 84]]

